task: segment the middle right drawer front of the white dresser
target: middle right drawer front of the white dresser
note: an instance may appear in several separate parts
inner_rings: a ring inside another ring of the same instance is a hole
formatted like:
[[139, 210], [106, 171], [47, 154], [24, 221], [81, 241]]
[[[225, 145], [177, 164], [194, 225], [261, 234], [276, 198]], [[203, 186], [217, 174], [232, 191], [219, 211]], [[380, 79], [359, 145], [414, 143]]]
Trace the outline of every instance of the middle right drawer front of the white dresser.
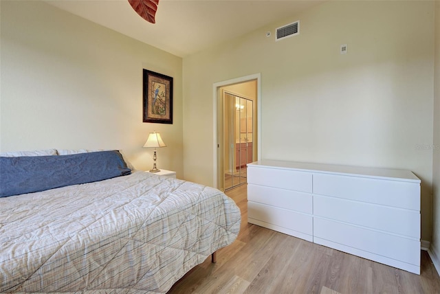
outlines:
[[314, 195], [314, 215], [420, 238], [420, 213], [415, 210]]

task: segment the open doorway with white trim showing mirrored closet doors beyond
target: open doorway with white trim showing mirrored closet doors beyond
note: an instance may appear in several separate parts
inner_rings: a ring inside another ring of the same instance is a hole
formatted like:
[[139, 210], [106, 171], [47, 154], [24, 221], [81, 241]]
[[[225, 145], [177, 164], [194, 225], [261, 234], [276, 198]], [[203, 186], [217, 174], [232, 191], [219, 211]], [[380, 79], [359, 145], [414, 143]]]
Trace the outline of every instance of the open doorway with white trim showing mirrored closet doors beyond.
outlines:
[[259, 160], [259, 78], [214, 84], [214, 187], [219, 190], [247, 183], [246, 165]]

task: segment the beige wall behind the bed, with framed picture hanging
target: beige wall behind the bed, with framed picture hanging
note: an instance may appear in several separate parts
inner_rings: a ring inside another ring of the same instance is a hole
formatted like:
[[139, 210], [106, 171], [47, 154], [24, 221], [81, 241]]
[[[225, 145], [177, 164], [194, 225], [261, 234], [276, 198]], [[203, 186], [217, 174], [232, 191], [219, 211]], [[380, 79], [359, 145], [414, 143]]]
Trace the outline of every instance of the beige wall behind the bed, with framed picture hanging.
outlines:
[[[174, 78], [173, 124], [142, 122], [142, 69]], [[183, 177], [182, 60], [41, 1], [1, 1], [1, 152], [116, 148]]]

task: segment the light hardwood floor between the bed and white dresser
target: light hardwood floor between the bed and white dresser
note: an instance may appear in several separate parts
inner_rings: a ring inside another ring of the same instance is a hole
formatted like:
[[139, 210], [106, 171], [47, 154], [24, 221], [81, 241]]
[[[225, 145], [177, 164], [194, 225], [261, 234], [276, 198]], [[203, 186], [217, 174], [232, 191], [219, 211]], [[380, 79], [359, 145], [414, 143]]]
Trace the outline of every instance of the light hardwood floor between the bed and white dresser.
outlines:
[[226, 192], [241, 209], [232, 245], [188, 272], [168, 293], [440, 293], [426, 251], [421, 275], [248, 224], [247, 185]]

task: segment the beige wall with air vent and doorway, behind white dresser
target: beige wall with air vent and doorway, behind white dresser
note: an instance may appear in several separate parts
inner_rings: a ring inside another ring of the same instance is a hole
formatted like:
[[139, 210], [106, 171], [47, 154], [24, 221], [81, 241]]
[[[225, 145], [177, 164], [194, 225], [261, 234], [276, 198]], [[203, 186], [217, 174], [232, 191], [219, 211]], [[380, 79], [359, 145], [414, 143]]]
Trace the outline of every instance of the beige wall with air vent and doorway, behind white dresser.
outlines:
[[[261, 73], [263, 159], [412, 170], [430, 240], [433, 11], [433, 1], [329, 1], [184, 58], [186, 179], [212, 185], [212, 84]], [[275, 42], [296, 20], [300, 34]]]

